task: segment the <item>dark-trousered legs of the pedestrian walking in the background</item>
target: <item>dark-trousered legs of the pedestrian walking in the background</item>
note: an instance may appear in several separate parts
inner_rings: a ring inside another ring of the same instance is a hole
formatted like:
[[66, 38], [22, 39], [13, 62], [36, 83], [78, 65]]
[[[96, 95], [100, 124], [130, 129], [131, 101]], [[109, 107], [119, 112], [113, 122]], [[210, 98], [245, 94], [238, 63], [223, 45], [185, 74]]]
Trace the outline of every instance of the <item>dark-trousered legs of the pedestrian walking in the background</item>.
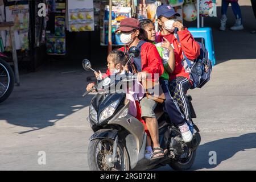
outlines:
[[226, 17], [226, 11], [228, 10], [229, 3], [231, 3], [233, 13], [236, 18], [236, 23], [234, 24], [233, 27], [230, 27], [231, 30], [243, 30], [243, 25], [242, 25], [242, 14], [241, 14], [241, 9], [238, 4], [238, 0], [222, 0], [221, 4], [221, 26], [220, 30], [224, 31], [226, 30], [226, 20], [228, 18]]

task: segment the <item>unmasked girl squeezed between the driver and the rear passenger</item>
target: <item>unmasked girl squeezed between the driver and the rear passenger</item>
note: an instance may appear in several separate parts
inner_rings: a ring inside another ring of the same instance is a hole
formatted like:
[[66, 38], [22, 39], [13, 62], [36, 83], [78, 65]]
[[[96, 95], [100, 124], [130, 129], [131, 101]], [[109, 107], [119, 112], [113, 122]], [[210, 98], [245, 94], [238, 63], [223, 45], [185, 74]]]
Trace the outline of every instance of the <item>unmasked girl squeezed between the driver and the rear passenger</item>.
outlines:
[[184, 141], [189, 141], [192, 135], [187, 137], [187, 130], [184, 130], [184, 127], [188, 127], [184, 115], [181, 113], [179, 106], [177, 105], [174, 98], [170, 94], [170, 85], [169, 85], [169, 73], [172, 73], [175, 69], [175, 55], [174, 48], [166, 38], [162, 38], [162, 41], [155, 43], [156, 31], [154, 23], [150, 19], [140, 20], [141, 26], [141, 39], [154, 43], [158, 49], [159, 55], [162, 57], [164, 65], [164, 73], [160, 77], [159, 82], [162, 86], [164, 96], [166, 100], [164, 101], [164, 110], [168, 113], [170, 120], [174, 123], [175, 126], [179, 127], [181, 135], [183, 136]]

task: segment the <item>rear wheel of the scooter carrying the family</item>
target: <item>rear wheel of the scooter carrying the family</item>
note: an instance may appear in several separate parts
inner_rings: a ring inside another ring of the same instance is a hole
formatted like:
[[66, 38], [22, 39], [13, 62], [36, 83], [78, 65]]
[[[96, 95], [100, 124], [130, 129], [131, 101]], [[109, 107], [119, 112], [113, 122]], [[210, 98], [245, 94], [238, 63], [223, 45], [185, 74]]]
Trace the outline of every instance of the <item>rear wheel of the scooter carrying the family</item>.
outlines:
[[169, 166], [174, 170], [188, 170], [192, 167], [195, 158], [196, 158], [196, 150], [189, 151], [185, 158], [176, 160], [174, 162], [169, 163]]

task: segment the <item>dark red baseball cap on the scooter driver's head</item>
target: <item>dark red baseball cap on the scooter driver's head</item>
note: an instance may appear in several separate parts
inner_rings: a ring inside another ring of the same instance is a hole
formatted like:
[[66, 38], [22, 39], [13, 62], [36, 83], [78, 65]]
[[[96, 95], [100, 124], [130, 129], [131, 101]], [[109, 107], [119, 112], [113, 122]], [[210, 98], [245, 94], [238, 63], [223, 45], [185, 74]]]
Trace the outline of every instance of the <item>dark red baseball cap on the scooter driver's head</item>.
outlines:
[[120, 21], [120, 27], [115, 31], [129, 32], [132, 30], [139, 30], [139, 21], [135, 18], [125, 18]]

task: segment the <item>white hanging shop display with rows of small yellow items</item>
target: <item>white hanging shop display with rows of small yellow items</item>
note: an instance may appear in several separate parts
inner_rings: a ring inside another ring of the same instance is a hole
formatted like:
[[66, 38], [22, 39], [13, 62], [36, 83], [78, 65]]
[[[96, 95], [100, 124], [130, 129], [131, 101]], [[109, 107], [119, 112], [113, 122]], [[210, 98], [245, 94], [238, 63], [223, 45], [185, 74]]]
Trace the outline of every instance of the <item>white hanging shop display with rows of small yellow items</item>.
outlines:
[[94, 30], [92, 0], [68, 1], [68, 30], [76, 32]]

